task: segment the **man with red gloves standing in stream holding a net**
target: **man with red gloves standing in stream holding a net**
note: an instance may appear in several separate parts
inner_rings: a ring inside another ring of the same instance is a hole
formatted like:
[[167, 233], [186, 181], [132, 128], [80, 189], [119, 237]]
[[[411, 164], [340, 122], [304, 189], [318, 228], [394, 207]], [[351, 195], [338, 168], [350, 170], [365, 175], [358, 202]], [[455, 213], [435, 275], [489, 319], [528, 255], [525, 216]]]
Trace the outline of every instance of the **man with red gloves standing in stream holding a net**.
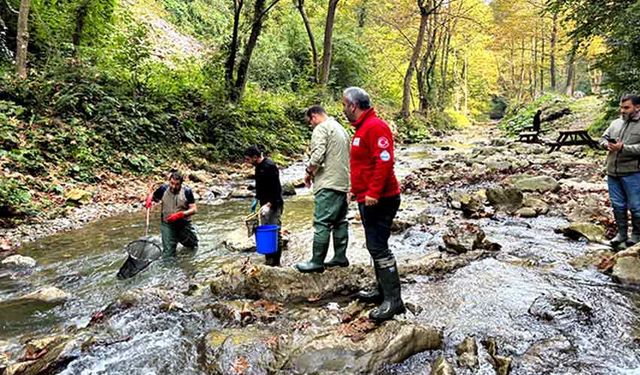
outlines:
[[164, 256], [174, 256], [178, 243], [188, 248], [198, 246], [198, 236], [191, 224], [191, 216], [198, 208], [193, 192], [182, 185], [183, 181], [180, 172], [172, 171], [169, 174], [169, 182], [149, 194], [145, 201], [146, 208], [151, 208], [153, 202], [162, 204], [160, 233]]

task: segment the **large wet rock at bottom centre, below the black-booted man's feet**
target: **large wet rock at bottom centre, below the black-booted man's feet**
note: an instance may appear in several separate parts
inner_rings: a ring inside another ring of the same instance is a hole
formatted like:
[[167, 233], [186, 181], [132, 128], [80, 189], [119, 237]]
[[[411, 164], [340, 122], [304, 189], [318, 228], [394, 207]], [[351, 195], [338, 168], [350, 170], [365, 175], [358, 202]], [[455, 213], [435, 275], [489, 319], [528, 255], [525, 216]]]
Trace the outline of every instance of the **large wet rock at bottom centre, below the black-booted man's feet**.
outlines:
[[440, 331], [396, 320], [383, 323], [357, 340], [345, 337], [349, 335], [343, 324], [307, 338], [293, 347], [283, 370], [298, 374], [371, 374], [383, 365], [442, 347]]

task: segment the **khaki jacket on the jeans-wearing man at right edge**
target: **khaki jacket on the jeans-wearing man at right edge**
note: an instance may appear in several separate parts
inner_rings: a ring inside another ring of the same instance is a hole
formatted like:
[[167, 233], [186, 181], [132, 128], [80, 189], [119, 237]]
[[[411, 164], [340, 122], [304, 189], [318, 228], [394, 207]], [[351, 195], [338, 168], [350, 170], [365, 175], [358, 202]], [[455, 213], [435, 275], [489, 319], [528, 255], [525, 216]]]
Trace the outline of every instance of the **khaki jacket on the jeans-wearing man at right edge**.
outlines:
[[607, 155], [607, 175], [620, 177], [640, 172], [640, 115], [629, 121], [613, 121], [600, 139], [602, 148], [607, 139], [621, 139], [623, 144], [622, 150]]

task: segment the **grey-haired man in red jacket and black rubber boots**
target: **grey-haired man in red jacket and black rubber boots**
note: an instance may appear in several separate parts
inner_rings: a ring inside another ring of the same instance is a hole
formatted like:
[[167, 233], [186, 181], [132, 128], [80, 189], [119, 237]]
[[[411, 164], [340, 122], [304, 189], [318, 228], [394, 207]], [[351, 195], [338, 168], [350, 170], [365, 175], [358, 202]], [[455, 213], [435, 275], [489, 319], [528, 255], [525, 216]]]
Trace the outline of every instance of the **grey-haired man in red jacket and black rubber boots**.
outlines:
[[361, 291], [363, 301], [380, 306], [369, 317], [382, 321], [405, 312], [400, 277], [391, 250], [391, 223], [400, 206], [400, 186], [393, 171], [393, 135], [371, 108], [369, 94], [349, 87], [342, 95], [344, 114], [356, 132], [351, 141], [351, 198], [358, 202], [367, 250], [374, 261], [377, 288]]

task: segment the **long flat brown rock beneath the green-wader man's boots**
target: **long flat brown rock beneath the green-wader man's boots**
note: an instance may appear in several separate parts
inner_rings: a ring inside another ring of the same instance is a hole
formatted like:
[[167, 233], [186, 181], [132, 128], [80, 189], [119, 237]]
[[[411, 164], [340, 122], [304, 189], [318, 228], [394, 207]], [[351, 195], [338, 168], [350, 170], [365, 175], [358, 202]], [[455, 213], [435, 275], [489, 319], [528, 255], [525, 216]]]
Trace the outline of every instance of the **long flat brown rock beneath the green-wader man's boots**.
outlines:
[[370, 272], [361, 266], [304, 274], [293, 268], [253, 264], [248, 258], [223, 265], [218, 276], [209, 282], [217, 296], [300, 302], [352, 294], [370, 277]]

